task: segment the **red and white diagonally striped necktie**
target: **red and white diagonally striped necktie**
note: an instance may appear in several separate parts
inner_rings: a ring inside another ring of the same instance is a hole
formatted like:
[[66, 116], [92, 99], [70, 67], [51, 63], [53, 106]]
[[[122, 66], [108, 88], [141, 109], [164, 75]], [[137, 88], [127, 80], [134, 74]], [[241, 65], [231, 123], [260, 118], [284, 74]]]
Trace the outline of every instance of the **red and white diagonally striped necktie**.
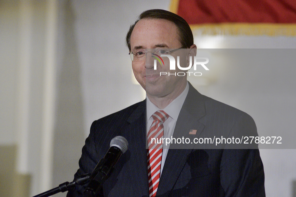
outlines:
[[[169, 115], [163, 110], [158, 110], [152, 114], [153, 122], [147, 134], [148, 141], [148, 183], [149, 183], [149, 196], [155, 196], [160, 178], [160, 166], [162, 158], [162, 141], [163, 137], [163, 122], [169, 117]], [[151, 138], [153, 139], [151, 141]], [[160, 142], [161, 141], [161, 142]], [[160, 143], [157, 143], [160, 142]]]

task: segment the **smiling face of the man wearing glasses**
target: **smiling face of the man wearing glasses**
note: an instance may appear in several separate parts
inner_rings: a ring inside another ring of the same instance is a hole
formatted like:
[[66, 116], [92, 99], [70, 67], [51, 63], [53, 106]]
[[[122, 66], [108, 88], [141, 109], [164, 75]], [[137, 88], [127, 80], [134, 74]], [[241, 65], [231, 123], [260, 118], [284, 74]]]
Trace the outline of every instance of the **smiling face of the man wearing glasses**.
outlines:
[[[135, 25], [131, 34], [131, 50], [153, 48], [180, 48], [177, 26], [165, 19], [141, 19]], [[186, 76], [159, 75], [160, 71], [168, 71], [168, 58], [164, 57], [164, 65], [157, 65], [154, 70], [154, 59], [151, 52], [140, 61], [132, 61], [134, 75], [148, 96], [164, 97], [181, 93], [186, 86]], [[174, 72], [178, 70], [173, 70]]]

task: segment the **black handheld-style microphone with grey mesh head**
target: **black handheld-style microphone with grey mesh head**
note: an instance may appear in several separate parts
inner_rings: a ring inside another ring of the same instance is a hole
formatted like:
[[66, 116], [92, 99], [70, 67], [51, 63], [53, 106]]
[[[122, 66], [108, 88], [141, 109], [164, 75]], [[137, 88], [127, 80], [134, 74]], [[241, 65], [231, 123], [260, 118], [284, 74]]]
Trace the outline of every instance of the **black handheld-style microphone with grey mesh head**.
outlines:
[[128, 142], [123, 136], [111, 139], [110, 148], [90, 175], [90, 182], [84, 190], [83, 196], [95, 196], [102, 184], [110, 176], [119, 157], [128, 149]]

